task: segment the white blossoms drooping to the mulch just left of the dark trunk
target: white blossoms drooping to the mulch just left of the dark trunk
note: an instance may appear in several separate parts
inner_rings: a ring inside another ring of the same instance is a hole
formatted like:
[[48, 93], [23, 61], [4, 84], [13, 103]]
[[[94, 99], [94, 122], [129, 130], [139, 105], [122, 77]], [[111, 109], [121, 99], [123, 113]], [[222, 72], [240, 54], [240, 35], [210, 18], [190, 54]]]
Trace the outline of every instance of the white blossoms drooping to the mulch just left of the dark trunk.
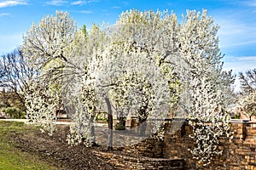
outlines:
[[[83, 76], [81, 76], [83, 77]], [[93, 86], [84, 82], [81, 77], [74, 78], [62, 96], [67, 111], [74, 124], [70, 126], [67, 143], [71, 145], [84, 144], [90, 146], [95, 142], [94, 127], [96, 95]], [[86, 97], [86, 98], [85, 98]]]

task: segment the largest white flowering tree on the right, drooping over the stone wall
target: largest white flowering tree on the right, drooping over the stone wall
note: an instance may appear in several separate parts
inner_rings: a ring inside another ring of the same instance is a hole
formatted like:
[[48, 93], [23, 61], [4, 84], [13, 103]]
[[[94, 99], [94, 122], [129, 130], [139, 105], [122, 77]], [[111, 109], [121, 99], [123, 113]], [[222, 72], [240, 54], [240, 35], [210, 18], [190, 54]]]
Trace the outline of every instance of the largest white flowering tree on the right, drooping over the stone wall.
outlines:
[[[218, 26], [213, 25], [206, 10], [202, 14], [188, 11], [182, 24], [177, 23], [175, 14], [131, 10], [121, 15], [117, 26], [122, 32], [117, 34], [122, 35], [119, 39], [129, 44], [122, 46], [126, 53], [144, 52], [170, 78], [170, 91], [177, 94], [172, 104], [179, 99], [177, 116], [201, 123], [191, 122], [195, 129], [191, 135], [195, 149], [191, 152], [206, 165], [212, 156], [221, 154], [218, 139], [229, 129], [225, 110], [232, 100], [230, 84], [234, 82], [231, 72], [222, 71]], [[150, 110], [150, 106], [142, 108]]]

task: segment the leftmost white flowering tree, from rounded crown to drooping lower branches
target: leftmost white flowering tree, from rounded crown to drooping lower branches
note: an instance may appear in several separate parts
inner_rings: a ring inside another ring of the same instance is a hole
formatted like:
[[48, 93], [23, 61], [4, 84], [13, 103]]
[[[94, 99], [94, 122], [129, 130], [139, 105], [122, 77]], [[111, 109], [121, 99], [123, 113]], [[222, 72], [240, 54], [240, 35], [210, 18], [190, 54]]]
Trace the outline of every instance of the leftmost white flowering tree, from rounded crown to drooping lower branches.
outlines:
[[68, 59], [73, 54], [75, 32], [76, 26], [69, 14], [56, 11], [55, 16], [44, 16], [38, 25], [33, 24], [20, 47], [26, 56], [26, 65], [38, 73], [27, 80], [29, 88], [23, 92], [27, 116], [41, 123], [50, 134], [55, 130], [53, 117], [61, 102], [64, 80], [61, 78], [64, 69], [71, 67], [67, 64], [70, 65]]

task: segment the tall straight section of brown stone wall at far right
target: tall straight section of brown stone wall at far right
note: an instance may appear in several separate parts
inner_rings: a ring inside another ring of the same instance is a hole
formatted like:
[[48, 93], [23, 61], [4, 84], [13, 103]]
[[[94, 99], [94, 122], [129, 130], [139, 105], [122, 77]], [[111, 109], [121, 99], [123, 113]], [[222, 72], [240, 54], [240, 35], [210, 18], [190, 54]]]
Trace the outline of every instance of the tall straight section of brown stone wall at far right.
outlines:
[[234, 133], [233, 139], [220, 139], [218, 147], [220, 150], [224, 150], [223, 154], [214, 158], [207, 167], [198, 167], [188, 150], [194, 147], [193, 140], [189, 138], [192, 127], [188, 124], [183, 126], [183, 130], [174, 134], [168, 133], [167, 130], [164, 157], [183, 158], [186, 162], [186, 169], [256, 170], [256, 123], [231, 122], [230, 130]]

